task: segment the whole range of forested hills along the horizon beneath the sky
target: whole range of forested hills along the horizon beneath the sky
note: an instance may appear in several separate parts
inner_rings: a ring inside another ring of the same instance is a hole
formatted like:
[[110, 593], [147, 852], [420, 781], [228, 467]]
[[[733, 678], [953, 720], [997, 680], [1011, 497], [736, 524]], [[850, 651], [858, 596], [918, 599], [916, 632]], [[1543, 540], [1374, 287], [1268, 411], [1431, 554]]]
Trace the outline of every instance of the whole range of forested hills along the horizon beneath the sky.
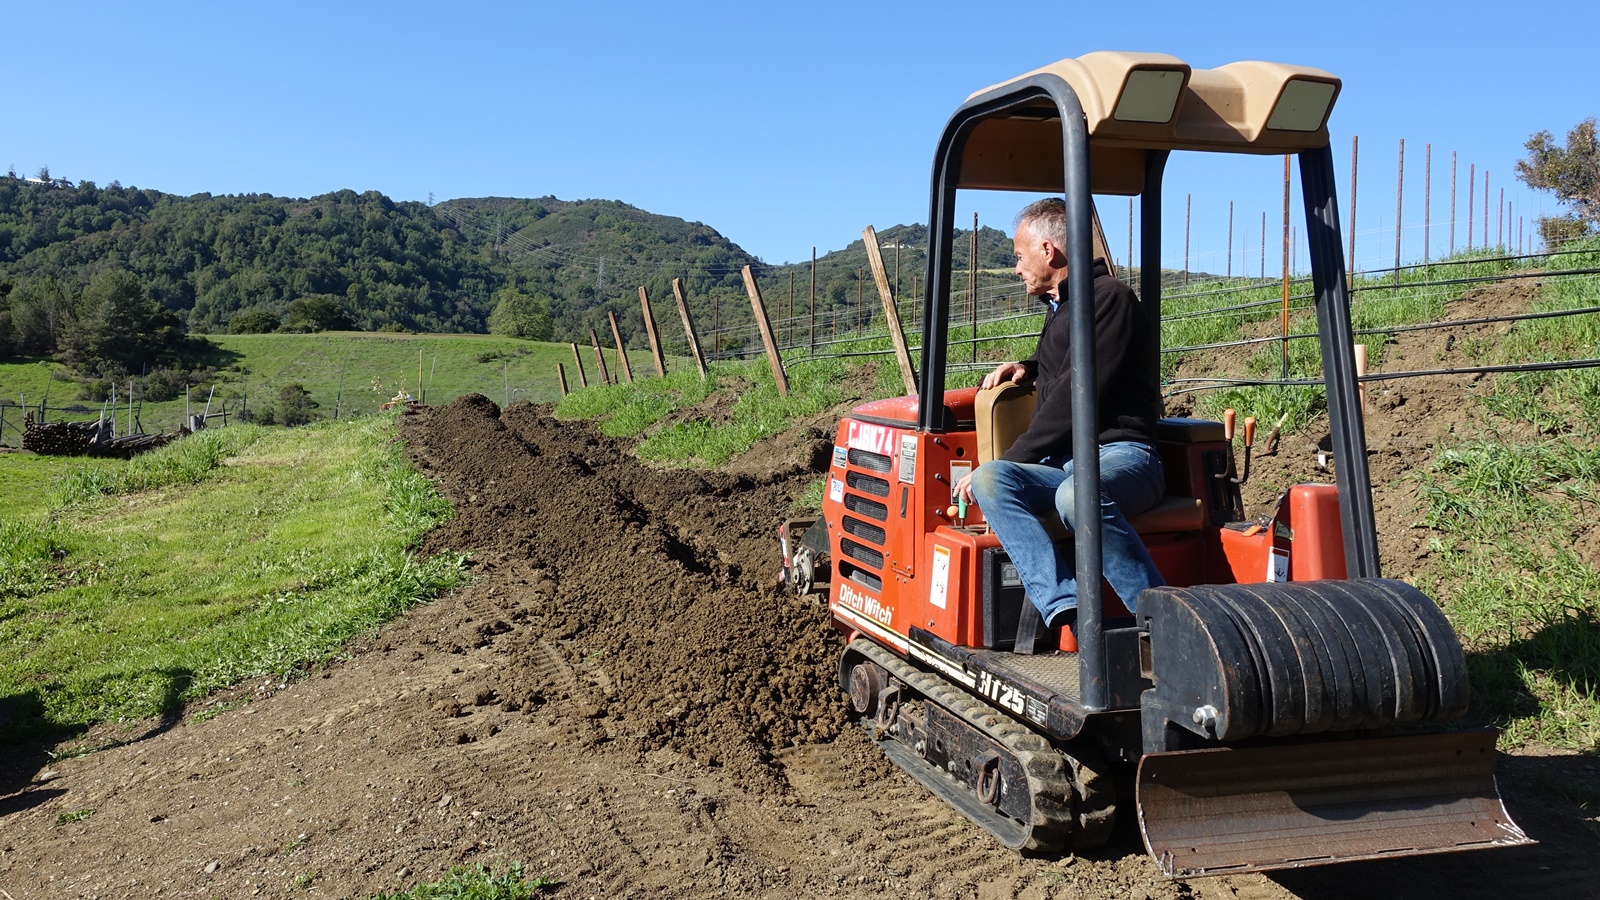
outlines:
[[[1008, 267], [1006, 237], [987, 227], [979, 234], [979, 266]], [[923, 271], [926, 229], [882, 227], [878, 237], [891, 269], [893, 247], [906, 247], [904, 295]], [[958, 234], [957, 266], [966, 266], [966, 247]], [[0, 178], [0, 314], [10, 317], [0, 330], [11, 328], [19, 352], [27, 351], [26, 328], [46, 327], [51, 309], [70, 309], [106, 271], [128, 272], [192, 333], [261, 320], [306, 328], [307, 309], [360, 330], [485, 331], [496, 293], [512, 290], [547, 299], [557, 340], [587, 340], [590, 328], [603, 335], [613, 311], [624, 338], [643, 346], [638, 287], [670, 309], [672, 279], [682, 277], [706, 327], [714, 299], [723, 301], [720, 323], [733, 325], [749, 320], [739, 275], [746, 264], [770, 303], [779, 291], [787, 296], [790, 267], [763, 266], [706, 224], [618, 200], [462, 199], [429, 207], [376, 191], [181, 197], [117, 183]], [[819, 309], [853, 306], [862, 266], [861, 242], [824, 253]], [[810, 263], [792, 269], [808, 290]], [[240, 314], [251, 315], [235, 322]]]

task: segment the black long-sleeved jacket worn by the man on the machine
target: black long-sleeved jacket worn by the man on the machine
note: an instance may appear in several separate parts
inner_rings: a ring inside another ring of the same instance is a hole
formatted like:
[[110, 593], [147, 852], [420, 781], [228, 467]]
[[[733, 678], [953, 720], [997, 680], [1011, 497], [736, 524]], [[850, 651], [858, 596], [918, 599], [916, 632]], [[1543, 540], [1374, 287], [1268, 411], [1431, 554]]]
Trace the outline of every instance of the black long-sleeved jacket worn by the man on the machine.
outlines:
[[[1062, 288], [1066, 285], [1062, 283]], [[1062, 290], [1062, 295], [1066, 291]], [[1034, 357], [1022, 360], [1038, 400], [1027, 431], [1005, 460], [1037, 463], [1072, 455], [1072, 317], [1067, 301], [1045, 315]], [[1110, 277], [1094, 259], [1094, 373], [1099, 397], [1099, 444], [1149, 444], [1162, 418], [1160, 331], [1133, 288]]]

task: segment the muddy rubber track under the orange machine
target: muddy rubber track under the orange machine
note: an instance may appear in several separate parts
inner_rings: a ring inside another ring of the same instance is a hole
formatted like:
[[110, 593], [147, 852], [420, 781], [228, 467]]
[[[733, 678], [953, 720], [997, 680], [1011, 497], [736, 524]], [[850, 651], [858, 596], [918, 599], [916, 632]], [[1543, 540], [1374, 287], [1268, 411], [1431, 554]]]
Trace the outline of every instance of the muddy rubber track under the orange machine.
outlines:
[[[1029, 834], [1019, 850], [1054, 854], [1090, 850], [1110, 839], [1117, 798], [1110, 775], [1098, 754], [1051, 746], [1042, 735], [1011, 716], [978, 700], [936, 674], [925, 673], [867, 639], [856, 639], [846, 652], [859, 653], [902, 681], [930, 703], [958, 716], [1006, 748], [1027, 773], [1032, 807]], [[1010, 822], [1010, 820], [1008, 820]], [[984, 825], [979, 822], [979, 825]]]

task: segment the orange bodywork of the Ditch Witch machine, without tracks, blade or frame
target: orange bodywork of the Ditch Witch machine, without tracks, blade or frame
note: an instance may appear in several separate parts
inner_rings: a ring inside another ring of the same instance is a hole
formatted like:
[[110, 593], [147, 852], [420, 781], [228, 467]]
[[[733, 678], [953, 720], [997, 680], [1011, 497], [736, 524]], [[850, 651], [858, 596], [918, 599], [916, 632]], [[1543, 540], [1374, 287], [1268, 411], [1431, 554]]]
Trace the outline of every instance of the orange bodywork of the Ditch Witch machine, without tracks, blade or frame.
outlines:
[[[917, 399], [858, 407], [838, 424], [822, 500], [832, 559], [829, 609], [850, 633], [901, 653], [912, 628], [958, 647], [1003, 649], [1016, 633], [1021, 581], [968, 508], [949, 514], [952, 485], [978, 464], [974, 388], [947, 391], [954, 429], [917, 431]], [[1163, 420], [1157, 448], [1168, 495], [1192, 498], [1200, 527], [1141, 532], [1168, 585], [1256, 583], [1344, 577], [1344, 541], [1333, 485], [1290, 488], [1259, 522], [1230, 522], [1232, 447], [1221, 424]], [[1221, 477], [1218, 477], [1221, 476]], [[1107, 615], [1126, 615], [1106, 586]], [[1062, 629], [1062, 650], [1075, 650]]]

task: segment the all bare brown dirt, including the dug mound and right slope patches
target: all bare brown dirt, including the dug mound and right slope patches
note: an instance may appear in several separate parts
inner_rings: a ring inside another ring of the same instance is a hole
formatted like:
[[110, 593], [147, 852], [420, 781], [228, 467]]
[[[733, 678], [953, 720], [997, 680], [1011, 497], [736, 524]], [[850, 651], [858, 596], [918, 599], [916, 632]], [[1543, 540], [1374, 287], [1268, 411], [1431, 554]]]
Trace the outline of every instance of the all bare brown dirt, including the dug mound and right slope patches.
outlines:
[[[1515, 290], [1453, 315], [1525, 303]], [[1422, 335], [1384, 367], [1446, 364], [1446, 335]], [[1475, 426], [1474, 384], [1371, 389], [1390, 575], [1426, 556], [1403, 476]], [[1000, 849], [846, 722], [826, 610], [770, 586], [774, 528], [829, 431], [667, 472], [526, 404], [405, 416], [458, 509], [427, 549], [470, 549], [474, 585], [307, 677], [88, 738], [122, 746], [21, 748], [0, 765], [0, 898], [365, 897], [512, 860], [571, 898], [1600, 895], [1594, 810], [1568, 799], [1600, 764], [1544, 751], [1501, 762], [1536, 847], [1194, 882], [1160, 878], [1126, 825], [1083, 857]], [[1317, 477], [1315, 445], [1258, 458], [1248, 508]]]

